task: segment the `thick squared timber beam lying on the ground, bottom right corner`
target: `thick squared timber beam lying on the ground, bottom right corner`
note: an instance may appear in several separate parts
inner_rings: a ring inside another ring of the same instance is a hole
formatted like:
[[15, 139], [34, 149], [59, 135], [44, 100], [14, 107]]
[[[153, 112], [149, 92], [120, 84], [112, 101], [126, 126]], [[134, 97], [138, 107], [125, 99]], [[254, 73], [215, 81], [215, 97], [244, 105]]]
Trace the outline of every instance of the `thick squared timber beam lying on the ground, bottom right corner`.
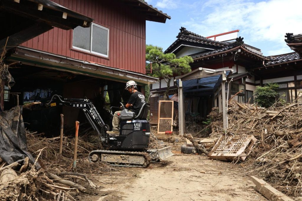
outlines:
[[281, 201], [294, 201], [293, 199], [289, 198], [288, 196], [284, 195], [264, 180], [259, 179], [257, 177], [251, 176], [250, 179], [256, 185], [255, 189], [259, 191], [263, 196], [271, 201], [281, 200]]

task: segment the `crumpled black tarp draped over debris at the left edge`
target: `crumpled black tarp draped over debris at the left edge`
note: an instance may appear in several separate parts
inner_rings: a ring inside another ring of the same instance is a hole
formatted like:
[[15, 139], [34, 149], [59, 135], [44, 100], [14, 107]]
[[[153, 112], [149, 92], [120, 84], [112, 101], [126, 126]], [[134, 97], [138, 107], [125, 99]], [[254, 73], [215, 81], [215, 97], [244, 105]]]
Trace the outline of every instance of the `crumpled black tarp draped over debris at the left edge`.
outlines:
[[[26, 131], [22, 118], [22, 106], [0, 112], [0, 156], [7, 163], [26, 157], [34, 163], [34, 157], [27, 151]], [[36, 163], [36, 168], [40, 165]]]

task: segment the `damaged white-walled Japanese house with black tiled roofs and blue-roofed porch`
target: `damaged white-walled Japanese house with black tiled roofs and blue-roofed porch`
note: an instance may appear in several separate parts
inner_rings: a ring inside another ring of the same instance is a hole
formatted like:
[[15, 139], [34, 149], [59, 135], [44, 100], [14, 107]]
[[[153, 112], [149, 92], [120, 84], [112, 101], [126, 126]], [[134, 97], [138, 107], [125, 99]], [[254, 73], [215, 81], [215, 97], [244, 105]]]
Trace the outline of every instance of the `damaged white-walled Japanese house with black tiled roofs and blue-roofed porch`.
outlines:
[[[203, 37], [182, 27], [175, 42], [165, 50], [165, 53], [174, 53], [176, 57], [189, 55], [194, 60], [190, 64], [191, 73], [175, 77], [170, 83], [169, 98], [178, 102], [181, 96], [179, 95], [179, 78], [187, 76], [182, 82], [185, 119], [188, 118], [188, 115], [193, 117], [200, 115], [201, 118], [206, 119], [213, 107], [219, 107], [219, 111], [222, 111], [223, 94], [220, 86], [222, 77], [201, 76], [203, 74], [201, 68], [215, 71], [223, 69], [226, 74], [225, 90], [223, 91], [228, 98], [234, 96], [233, 99], [237, 102], [253, 103], [256, 86], [272, 82], [279, 84], [279, 94], [280, 96], [285, 94], [283, 98], [286, 102], [292, 102], [298, 96], [302, 96], [302, 94], [299, 95], [302, 88], [300, 83], [302, 81], [302, 62], [301, 55], [299, 55], [301, 46], [298, 44], [301, 35], [288, 34], [286, 36], [288, 46], [296, 52], [264, 56], [260, 49], [245, 44], [243, 38], [237, 37], [238, 32], [239, 30], [234, 30]], [[197, 71], [200, 73], [198, 74]], [[192, 74], [195, 75], [192, 76]], [[162, 100], [166, 87], [167, 84], [164, 80], [152, 84], [151, 112], [156, 114], [158, 101]], [[298, 102], [301, 101], [298, 99]], [[179, 108], [176, 107], [178, 110]], [[153, 115], [151, 121], [156, 123], [157, 115]]]

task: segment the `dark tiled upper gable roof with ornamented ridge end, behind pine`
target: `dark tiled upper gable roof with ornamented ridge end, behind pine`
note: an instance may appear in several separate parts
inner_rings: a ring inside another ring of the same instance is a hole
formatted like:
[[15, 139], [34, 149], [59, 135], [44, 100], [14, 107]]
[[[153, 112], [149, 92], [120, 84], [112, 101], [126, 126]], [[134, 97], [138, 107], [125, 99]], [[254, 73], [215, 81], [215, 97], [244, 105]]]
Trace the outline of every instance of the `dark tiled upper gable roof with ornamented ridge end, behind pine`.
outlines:
[[164, 53], [169, 52], [169, 50], [172, 49], [176, 45], [176, 43], [180, 41], [194, 42], [194, 43], [205, 44], [214, 47], [229, 46], [229, 43], [227, 42], [219, 42], [219, 41], [207, 39], [204, 36], [186, 30], [186, 28], [184, 27], [181, 27], [179, 30], [180, 32], [176, 36], [177, 39], [165, 50]]

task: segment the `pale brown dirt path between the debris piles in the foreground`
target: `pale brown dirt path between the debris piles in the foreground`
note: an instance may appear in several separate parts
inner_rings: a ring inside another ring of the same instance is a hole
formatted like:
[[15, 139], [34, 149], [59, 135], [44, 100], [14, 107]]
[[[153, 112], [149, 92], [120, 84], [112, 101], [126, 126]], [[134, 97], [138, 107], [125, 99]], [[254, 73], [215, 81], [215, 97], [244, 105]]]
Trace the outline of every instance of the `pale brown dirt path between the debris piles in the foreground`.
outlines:
[[82, 200], [267, 200], [235, 167], [205, 156], [177, 154], [148, 168], [118, 168], [96, 177], [96, 183], [102, 182], [98, 196]]

